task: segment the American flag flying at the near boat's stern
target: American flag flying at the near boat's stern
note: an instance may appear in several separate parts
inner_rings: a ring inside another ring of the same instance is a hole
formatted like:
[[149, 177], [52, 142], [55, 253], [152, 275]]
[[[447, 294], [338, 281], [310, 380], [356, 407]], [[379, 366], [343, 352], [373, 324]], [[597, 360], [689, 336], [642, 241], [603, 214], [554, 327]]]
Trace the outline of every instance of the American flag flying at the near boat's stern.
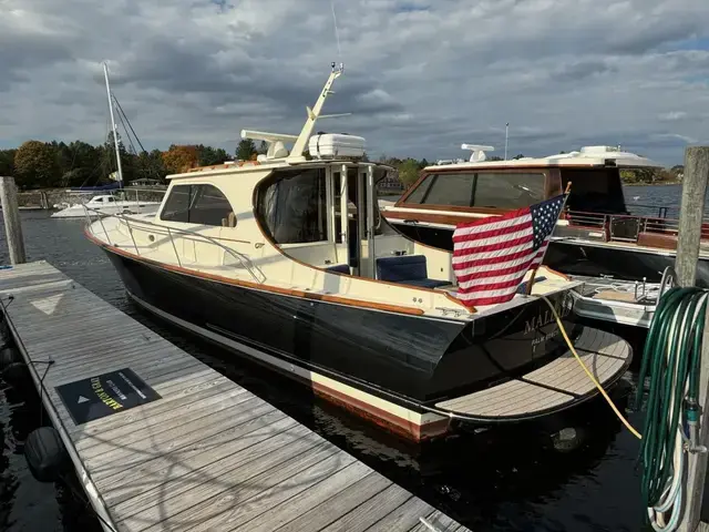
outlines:
[[542, 264], [566, 196], [459, 224], [453, 233], [456, 297], [469, 307], [512, 299], [525, 274]]

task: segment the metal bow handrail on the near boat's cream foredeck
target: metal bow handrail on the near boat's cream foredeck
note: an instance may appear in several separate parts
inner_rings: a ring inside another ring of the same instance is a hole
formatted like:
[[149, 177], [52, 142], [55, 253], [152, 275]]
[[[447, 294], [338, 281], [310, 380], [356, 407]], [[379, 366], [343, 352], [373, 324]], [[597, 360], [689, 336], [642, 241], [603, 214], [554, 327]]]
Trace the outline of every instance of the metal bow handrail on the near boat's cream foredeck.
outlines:
[[[91, 232], [92, 235], [97, 236], [93, 228], [93, 221], [91, 218], [91, 213], [93, 212], [94, 214], [96, 214], [99, 222], [101, 223], [101, 228], [103, 229], [103, 233], [105, 235], [105, 239], [107, 244], [111, 244], [111, 238], [109, 237], [109, 232], [106, 231], [106, 227], [103, 223], [103, 217], [105, 216], [104, 213], [101, 213], [100, 211], [96, 211], [94, 208], [88, 207], [84, 204], [84, 211], [86, 213], [86, 228]], [[225, 246], [224, 244], [219, 243], [216, 238], [213, 238], [210, 236], [207, 235], [202, 235], [197, 232], [194, 231], [187, 231], [187, 229], [178, 229], [176, 227], [169, 227], [167, 225], [161, 225], [161, 224], [156, 224], [154, 222], [147, 221], [147, 219], [133, 219], [133, 225], [131, 225], [131, 218], [129, 215], [125, 214], [111, 214], [109, 215], [110, 217], [114, 217], [120, 219], [122, 223], [125, 223], [127, 229], [129, 229], [129, 234], [131, 235], [131, 239], [133, 241], [133, 247], [135, 248], [135, 253], [141, 256], [141, 252], [140, 248], [137, 246], [137, 243], [135, 242], [135, 237], [133, 236], [133, 231], [134, 231], [134, 226], [135, 225], [147, 225], [150, 227], [156, 228], [158, 231], [154, 231], [154, 233], [160, 233], [162, 235], [167, 235], [167, 237], [169, 238], [169, 242], [173, 246], [173, 250], [175, 252], [175, 258], [177, 259], [177, 265], [179, 267], [182, 267], [182, 260], [179, 259], [179, 254], [177, 253], [177, 246], [175, 245], [175, 241], [173, 237], [173, 233], [177, 233], [177, 234], [183, 234], [183, 235], [188, 235], [191, 237], [195, 237], [197, 239], [202, 239], [205, 241], [212, 245], [215, 245], [219, 248], [222, 248], [223, 250], [225, 250], [227, 254], [229, 254], [233, 258], [235, 258], [236, 260], [238, 260], [238, 263], [242, 265], [242, 267], [244, 269], [246, 269], [249, 275], [251, 276], [251, 278], [258, 283], [258, 284], [263, 284], [266, 282], [266, 275], [264, 275], [264, 273], [256, 266], [254, 265], [254, 263], [251, 262], [250, 257], [244, 253], [237, 252], [235, 249], [232, 249], [228, 246]], [[143, 231], [147, 233], [147, 229], [143, 228], [143, 227], [136, 227], [137, 231]]]

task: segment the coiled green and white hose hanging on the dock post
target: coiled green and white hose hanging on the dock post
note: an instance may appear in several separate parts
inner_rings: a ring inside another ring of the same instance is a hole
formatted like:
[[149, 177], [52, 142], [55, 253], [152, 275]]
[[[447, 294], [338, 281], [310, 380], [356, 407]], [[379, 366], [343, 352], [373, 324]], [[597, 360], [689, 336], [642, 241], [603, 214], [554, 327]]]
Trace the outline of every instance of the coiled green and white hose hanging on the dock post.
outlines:
[[674, 531], [681, 516], [687, 450], [698, 448], [699, 364], [709, 291], [670, 288], [650, 323], [636, 405], [649, 379], [640, 443], [641, 495], [656, 531]]

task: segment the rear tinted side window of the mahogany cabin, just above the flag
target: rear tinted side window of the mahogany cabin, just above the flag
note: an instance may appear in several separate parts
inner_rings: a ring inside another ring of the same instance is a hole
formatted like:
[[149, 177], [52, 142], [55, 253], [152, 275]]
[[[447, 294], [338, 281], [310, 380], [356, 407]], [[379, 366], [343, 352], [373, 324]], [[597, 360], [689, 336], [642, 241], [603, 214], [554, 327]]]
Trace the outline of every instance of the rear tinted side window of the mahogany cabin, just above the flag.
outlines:
[[477, 174], [475, 207], [521, 208], [542, 201], [544, 174]]

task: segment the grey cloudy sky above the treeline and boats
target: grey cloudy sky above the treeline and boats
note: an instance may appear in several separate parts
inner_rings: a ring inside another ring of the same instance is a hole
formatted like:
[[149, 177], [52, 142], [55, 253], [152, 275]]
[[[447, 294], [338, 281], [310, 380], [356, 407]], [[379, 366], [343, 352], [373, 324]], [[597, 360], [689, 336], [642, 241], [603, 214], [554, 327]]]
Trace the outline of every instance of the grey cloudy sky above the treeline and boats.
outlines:
[[341, 55], [330, 0], [0, 0], [0, 147], [101, 142], [103, 60], [148, 150], [297, 133], [340, 59], [318, 129], [373, 156], [709, 143], [707, 0], [332, 1]]

